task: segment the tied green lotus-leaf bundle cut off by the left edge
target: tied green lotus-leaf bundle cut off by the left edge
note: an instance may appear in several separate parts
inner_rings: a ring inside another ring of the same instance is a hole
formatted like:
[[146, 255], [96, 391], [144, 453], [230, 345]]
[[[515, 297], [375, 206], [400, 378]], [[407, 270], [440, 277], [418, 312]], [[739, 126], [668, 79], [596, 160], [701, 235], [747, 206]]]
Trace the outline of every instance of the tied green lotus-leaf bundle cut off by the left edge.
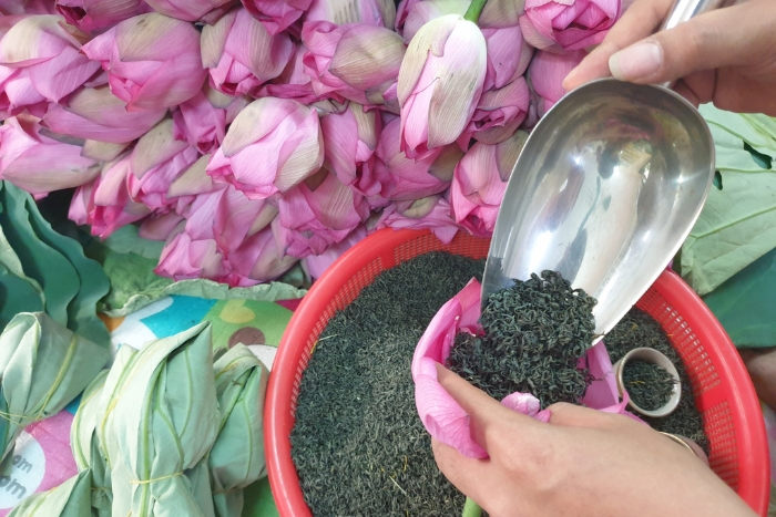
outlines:
[[0, 334], [0, 461], [25, 426], [62, 411], [109, 359], [43, 312], [17, 314]]

